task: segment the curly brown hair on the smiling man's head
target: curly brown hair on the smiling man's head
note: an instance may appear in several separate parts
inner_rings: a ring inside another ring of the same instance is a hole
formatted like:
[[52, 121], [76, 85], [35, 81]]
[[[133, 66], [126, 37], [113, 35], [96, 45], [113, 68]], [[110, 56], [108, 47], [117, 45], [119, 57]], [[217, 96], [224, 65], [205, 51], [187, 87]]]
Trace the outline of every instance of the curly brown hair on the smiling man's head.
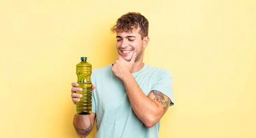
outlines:
[[135, 29], [140, 28], [138, 33], [141, 35], [141, 39], [148, 36], [148, 20], [139, 12], [128, 12], [122, 15], [116, 21], [116, 25], [114, 25], [111, 28], [111, 31], [113, 33], [122, 32], [122, 31], [132, 32], [134, 28]]

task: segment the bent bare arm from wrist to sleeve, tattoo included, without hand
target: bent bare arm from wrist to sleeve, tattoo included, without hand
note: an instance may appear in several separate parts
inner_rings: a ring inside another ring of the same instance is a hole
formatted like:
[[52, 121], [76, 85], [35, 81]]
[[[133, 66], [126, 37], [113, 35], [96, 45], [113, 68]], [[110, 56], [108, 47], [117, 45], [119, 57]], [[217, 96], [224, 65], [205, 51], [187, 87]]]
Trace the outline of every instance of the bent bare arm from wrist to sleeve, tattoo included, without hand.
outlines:
[[146, 127], [153, 127], [166, 113], [171, 100], [157, 90], [152, 90], [145, 96], [132, 75], [126, 76], [122, 81], [134, 113]]

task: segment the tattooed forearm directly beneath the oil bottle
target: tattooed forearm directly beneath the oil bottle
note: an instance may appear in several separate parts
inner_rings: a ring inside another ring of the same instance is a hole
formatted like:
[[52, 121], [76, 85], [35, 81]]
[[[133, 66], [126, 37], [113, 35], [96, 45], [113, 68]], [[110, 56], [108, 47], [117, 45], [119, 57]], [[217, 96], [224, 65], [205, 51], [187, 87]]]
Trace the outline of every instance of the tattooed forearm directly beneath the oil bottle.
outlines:
[[89, 115], [75, 115], [73, 125], [80, 138], [85, 138], [93, 129]]

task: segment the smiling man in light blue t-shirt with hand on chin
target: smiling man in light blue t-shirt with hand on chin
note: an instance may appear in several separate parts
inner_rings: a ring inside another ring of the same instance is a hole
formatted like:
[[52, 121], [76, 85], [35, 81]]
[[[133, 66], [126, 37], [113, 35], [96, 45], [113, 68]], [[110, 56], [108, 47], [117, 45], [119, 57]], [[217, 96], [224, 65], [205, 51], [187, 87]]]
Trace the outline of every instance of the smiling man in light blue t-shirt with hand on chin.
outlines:
[[[174, 104], [172, 74], [143, 63], [149, 42], [148, 20], [143, 15], [122, 15], [111, 30], [116, 33], [118, 59], [93, 70], [93, 113], [75, 115], [75, 130], [85, 138], [97, 116], [96, 138], [158, 138], [160, 119]], [[74, 82], [72, 86], [75, 104], [81, 88]]]

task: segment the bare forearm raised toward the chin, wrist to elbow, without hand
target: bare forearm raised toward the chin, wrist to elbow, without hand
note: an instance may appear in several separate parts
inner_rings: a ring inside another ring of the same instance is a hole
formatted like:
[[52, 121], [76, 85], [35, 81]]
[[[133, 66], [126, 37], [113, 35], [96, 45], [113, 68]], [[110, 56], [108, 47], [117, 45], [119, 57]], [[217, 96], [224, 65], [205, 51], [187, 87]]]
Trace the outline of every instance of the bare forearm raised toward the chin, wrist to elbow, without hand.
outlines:
[[126, 76], [122, 81], [134, 113], [143, 121], [145, 126], [152, 127], [159, 121], [162, 107], [158, 106], [143, 93], [132, 75]]

